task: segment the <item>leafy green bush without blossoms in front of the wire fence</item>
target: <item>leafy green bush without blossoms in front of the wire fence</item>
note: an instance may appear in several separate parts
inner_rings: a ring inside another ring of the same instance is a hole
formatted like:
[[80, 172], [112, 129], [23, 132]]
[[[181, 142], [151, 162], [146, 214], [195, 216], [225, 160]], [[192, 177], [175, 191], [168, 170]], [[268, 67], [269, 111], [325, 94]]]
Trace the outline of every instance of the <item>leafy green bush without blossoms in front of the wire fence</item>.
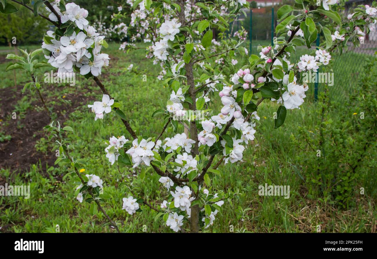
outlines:
[[313, 131], [300, 127], [300, 136], [292, 136], [304, 151], [297, 160], [305, 165], [303, 177], [309, 196], [320, 194], [325, 202], [342, 208], [353, 206], [356, 192], [364, 194], [366, 183], [372, 189], [376, 179], [372, 176], [377, 166], [376, 59], [365, 71], [348, 100], [330, 102], [325, 87], [318, 102], [319, 126]]

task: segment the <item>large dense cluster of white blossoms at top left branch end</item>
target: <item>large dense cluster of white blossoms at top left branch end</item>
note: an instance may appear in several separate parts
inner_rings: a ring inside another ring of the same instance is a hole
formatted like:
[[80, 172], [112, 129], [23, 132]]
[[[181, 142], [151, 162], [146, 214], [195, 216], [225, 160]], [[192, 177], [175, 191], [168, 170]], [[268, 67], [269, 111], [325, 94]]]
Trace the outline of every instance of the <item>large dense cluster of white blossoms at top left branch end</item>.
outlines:
[[[60, 15], [61, 23], [70, 23], [70, 26], [65, 32], [68, 35], [60, 35], [51, 30], [47, 32], [42, 48], [46, 50], [44, 54], [48, 62], [58, 68], [59, 75], [73, 72], [74, 67], [80, 70], [81, 75], [100, 75], [102, 67], [109, 65], [110, 58], [109, 55], [100, 53], [105, 37], [89, 26], [86, 20], [88, 12], [75, 3], [68, 3], [64, 12], [57, 5], [53, 8]], [[49, 18], [58, 21], [52, 12]], [[69, 30], [71, 26], [72, 30]]]

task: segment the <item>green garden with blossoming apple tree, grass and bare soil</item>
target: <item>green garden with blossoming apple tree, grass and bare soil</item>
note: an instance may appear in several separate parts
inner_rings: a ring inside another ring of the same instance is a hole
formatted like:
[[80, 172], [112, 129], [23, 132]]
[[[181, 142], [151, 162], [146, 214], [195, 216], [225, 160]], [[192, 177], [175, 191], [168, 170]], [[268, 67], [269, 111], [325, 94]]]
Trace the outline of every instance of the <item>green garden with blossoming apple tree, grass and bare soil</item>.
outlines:
[[89, 2], [0, 1], [0, 232], [377, 231], [376, 2]]

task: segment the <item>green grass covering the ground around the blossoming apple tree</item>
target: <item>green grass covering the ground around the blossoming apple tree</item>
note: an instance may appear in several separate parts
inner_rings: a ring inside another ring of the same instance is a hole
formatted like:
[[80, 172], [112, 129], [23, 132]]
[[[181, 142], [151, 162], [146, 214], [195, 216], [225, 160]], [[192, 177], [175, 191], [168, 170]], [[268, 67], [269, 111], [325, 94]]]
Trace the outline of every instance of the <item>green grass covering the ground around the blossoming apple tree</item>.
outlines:
[[[255, 42], [253, 45], [256, 46]], [[120, 100], [121, 109], [127, 114], [136, 134], [157, 136], [163, 122], [152, 119], [151, 115], [156, 109], [166, 106], [170, 90], [164, 88], [162, 82], [153, 76], [147, 76], [147, 81], [144, 82], [142, 75], [125, 72], [124, 69], [133, 63], [148, 74], [157, 75], [158, 66], [152, 66], [150, 59], [144, 57], [143, 50], [127, 54], [117, 50], [117, 47], [117, 44], [110, 44], [107, 50], [112, 60], [110, 66], [103, 70], [102, 81], [112, 96]], [[349, 62], [347, 56], [339, 58]], [[0, 80], [3, 88], [12, 88], [13, 73], [4, 72], [6, 64], [0, 64]], [[242, 62], [239, 62], [236, 69], [241, 67], [241, 64]], [[351, 70], [345, 71], [350, 72]], [[101, 93], [93, 81], [87, 81], [81, 76], [76, 79], [77, 85], [74, 87], [60, 85], [48, 89], [48, 104], [59, 105], [64, 102], [61, 96], [84, 91], [84, 87], [89, 89], [85, 90], [88, 91], [88, 96], [95, 96], [92, 101], [101, 98]], [[25, 82], [28, 82], [27, 76], [17, 74], [17, 84], [22, 85]], [[353, 83], [356, 83], [356, 80]], [[341, 87], [339, 84], [336, 82], [334, 87]], [[45, 88], [47, 87], [49, 86]], [[27, 114], [30, 109], [36, 108], [29, 105], [36, 96], [34, 93], [25, 94], [28, 97], [20, 100], [15, 108]], [[232, 225], [234, 232], [316, 232], [317, 225], [320, 225], [322, 232], [375, 232], [377, 216], [373, 199], [355, 195], [357, 206], [342, 211], [329, 206], [319, 197], [307, 197], [305, 182], [300, 173], [304, 169], [295, 158], [296, 154], [302, 151], [290, 142], [291, 134], [298, 133], [298, 126], [314, 128], [317, 125], [318, 118], [314, 113], [316, 103], [312, 102], [313, 90], [307, 96], [304, 104], [305, 119], [302, 119], [299, 110], [289, 111], [285, 124], [277, 130], [273, 129], [273, 113], [278, 106], [272, 102], [261, 104], [258, 110], [261, 123], [257, 125], [256, 140], [248, 145], [243, 161], [220, 166], [221, 177], [214, 177], [209, 187], [210, 193], [233, 189], [238, 190], [239, 195], [233, 197], [231, 203], [225, 202], [213, 226], [206, 231], [229, 232]], [[87, 104], [79, 105], [69, 114], [64, 125], [72, 126], [74, 132], [67, 133], [66, 139], [75, 146], [72, 152], [74, 157], [85, 159], [86, 172], [99, 175], [104, 180], [104, 192], [112, 197], [104, 204], [106, 212], [120, 223], [122, 232], [142, 232], [144, 225], [146, 232], [172, 232], [164, 225], [162, 218], [155, 221], [157, 213], [146, 206], [142, 206], [142, 212], [132, 216], [121, 210], [122, 198], [126, 196], [128, 189], [126, 185], [120, 185], [125, 180], [118, 169], [108, 162], [103, 144], [104, 140], [111, 136], [129, 135], [113, 113], [107, 114], [103, 122], [95, 122]], [[56, 112], [57, 110], [54, 110], [54, 113]], [[334, 111], [334, 116], [336, 112], [341, 111]], [[42, 126], [44, 125], [41, 125], [41, 128]], [[169, 127], [163, 137], [172, 135], [173, 130]], [[46, 141], [46, 138], [38, 140], [37, 149], [42, 153], [55, 155], [55, 152], [51, 151], [52, 144]], [[12, 173], [9, 169], [0, 169], [0, 177], [8, 184], [31, 186], [31, 197], [28, 200], [14, 196], [0, 197], [0, 226], [3, 229], [0, 229], [0, 232], [4, 229], [8, 232], [55, 232], [56, 224], [59, 225], [60, 232], [115, 232], [101, 213], [90, 216], [89, 204], [78, 203], [74, 196], [74, 180], [69, 177], [64, 181], [61, 179], [69, 169], [53, 166], [46, 168], [46, 173], [43, 169], [40, 165], [31, 165], [30, 170], [20, 174]], [[140, 169], [121, 170], [126, 180], [134, 180], [133, 194], [145, 197], [152, 206], [159, 208], [159, 203], [167, 197], [166, 190], [158, 183], [159, 176], [149, 171], [141, 180], [137, 176]], [[284, 199], [259, 196], [258, 186], [264, 183], [290, 185], [291, 197]], [[188, 224], [184, 227], [187, 228]]]

